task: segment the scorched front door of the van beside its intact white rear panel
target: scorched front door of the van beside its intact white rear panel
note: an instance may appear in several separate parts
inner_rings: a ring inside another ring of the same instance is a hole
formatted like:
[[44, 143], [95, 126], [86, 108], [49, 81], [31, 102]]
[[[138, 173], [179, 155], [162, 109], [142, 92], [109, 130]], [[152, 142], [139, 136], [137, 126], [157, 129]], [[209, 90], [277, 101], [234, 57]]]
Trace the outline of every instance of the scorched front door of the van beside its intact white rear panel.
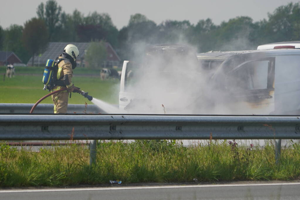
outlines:
[[232, 69], [232, 114], [268, 115], [274, 111], [275, 57], [248, 60]]

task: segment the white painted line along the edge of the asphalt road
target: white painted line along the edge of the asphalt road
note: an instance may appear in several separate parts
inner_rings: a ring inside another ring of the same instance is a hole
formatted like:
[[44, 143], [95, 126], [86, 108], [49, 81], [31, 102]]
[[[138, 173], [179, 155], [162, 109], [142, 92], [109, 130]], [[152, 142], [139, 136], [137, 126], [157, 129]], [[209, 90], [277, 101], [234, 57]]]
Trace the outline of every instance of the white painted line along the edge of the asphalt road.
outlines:
[[56, 192], [56, 191], [84, 191], [84, 190], [135, 190], [159, 188], [186, 188], [186, 187], [230, 187], [230, 186], [266, 186], [266, 185], [300, 185], [300, 183], [270, 183], [270, 184], [224, 184], [224, 185], [174, 185], [174, 186], [148, 186], [148, 187], [101, 187], [101, 188], [66, 188], [66, 189], [35, 189], [35, 190], [0, 190], [0, 193], [16, 192]]

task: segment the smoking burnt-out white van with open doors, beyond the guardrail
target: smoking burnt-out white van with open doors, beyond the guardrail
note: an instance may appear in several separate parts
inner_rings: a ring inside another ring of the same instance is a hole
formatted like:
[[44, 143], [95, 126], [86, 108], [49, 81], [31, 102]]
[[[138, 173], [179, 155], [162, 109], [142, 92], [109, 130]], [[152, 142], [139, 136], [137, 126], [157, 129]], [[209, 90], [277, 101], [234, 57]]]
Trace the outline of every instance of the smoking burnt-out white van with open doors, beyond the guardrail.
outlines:
[[[197, 58], [197, 69], [181, 70], [186, 73], [182, 76], [184, 79], [180, 78], [178, 68], [161, 72], [173, 77], [170, 80], [175, 85], [167, 87], [163, 96], [160, 96], [161, 93], [153, 96], [152, 90], [159, 90], [159, 86], [164, 88], [165, 77], [145, 68], [144, 73], [157, 76], [155, 81], [160, 82], [163, 78], [163, 85], [154, 84], [154, 88], [141, 85], [143, 92], [149, 93], [148, 97], [153, 99], [151, 101], [139, 98], [140, 91], [130, 90], [131, 81], [135, 81], [132, 77], [136, 67], [129, 69], [131, 63], [125, 61], [119, 95], [120, 110], [130, 112], [131, 106], [139, 104], [143, 113], [147, 109], [159, 108], [164, 113], [161, 108], [164, 104], [167, 113], [178, 114], [300, 114], [300, 49], [207, 52], [197, 54]], [[128, 75], [130, 71], [132, 77]], [[174, 110], [174, 106], [177, 109]]]

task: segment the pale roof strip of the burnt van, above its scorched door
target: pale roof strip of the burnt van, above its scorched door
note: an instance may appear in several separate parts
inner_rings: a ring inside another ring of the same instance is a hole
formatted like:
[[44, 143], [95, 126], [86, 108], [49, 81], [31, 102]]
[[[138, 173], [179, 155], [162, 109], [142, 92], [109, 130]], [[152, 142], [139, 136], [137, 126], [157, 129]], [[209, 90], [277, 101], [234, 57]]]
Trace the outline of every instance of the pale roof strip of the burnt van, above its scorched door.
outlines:
[[[300, 44], [300, 42], [299, 42]], [[228, 57], [238, 54], [299, 54], [300, 49], [263, 49], [263, 50], [244, 50], [244, 51], [209, 51], [198, 53], [198, 60], [226, 60]]]

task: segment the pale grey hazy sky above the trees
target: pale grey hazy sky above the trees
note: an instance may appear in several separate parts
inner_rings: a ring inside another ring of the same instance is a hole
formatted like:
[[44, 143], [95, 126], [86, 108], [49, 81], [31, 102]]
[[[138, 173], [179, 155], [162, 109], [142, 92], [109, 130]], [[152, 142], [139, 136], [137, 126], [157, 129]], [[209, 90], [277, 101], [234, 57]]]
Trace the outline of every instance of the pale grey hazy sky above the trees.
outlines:
[[[8, 0], [0, 7], [0, 25], [7, 28], [10, 24], [23, 25], [36, 15], [36, 9], [46, 0]], [[128, 24], [130, 15], [141, 13], [157, 24], [166, 19], [189, 20], [196, 24], [199, 19], [211, 18], [215, 24], [227, 21], [235, 16], [250, 16], [254, 21], [267, 18], [280, 5], [299, 0], [57, 0], [62, 10], [72, 13], [77, 9], [88, 15], [109, 13], [118, 29]]]

